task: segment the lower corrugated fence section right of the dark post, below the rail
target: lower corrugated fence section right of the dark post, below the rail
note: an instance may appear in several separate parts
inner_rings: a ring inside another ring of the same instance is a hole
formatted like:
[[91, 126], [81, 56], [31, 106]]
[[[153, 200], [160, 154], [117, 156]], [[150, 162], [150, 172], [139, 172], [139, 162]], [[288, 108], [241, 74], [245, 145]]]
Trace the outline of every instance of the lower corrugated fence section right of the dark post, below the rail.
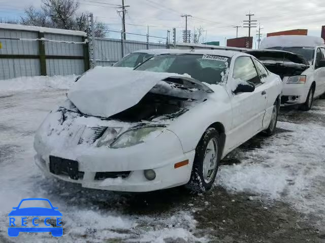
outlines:
[[70, 75], [84, 72], [82, 59], [46, 59], [47, 75]]

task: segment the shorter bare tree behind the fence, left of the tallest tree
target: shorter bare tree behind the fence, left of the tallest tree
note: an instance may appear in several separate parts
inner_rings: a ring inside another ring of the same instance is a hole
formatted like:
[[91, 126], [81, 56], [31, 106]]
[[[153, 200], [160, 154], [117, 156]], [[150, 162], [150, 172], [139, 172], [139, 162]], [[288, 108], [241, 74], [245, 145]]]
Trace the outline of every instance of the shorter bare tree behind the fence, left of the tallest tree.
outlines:
[[41, 27], [51, 27], [51, 20], [44, 13], [35, 9], [33, 6], [29, 6], [25, 9], [26, 17], [21, 17], [20, 24], [23, 25], [32, 25], [32, 26], [41, 26]]

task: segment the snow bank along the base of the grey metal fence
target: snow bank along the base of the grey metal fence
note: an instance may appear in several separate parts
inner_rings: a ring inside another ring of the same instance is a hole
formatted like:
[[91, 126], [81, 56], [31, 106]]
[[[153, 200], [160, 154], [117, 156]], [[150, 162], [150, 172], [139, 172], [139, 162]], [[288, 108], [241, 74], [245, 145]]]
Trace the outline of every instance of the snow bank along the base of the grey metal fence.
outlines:
[[62, 89], [68, 90], [75, 83], [77, 75], [69, 76], [31, 76], [0, 80], [1, 91], [23, 91]]

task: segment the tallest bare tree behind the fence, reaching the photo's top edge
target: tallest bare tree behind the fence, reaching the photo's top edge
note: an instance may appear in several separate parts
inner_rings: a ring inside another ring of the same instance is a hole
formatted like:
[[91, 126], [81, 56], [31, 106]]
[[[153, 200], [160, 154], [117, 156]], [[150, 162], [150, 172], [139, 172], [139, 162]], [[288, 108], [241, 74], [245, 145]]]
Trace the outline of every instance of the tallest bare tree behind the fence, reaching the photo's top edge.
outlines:
[[76, 0], [42, 0], [42, 9], [56, 28], [73, 29], [79, 8]]

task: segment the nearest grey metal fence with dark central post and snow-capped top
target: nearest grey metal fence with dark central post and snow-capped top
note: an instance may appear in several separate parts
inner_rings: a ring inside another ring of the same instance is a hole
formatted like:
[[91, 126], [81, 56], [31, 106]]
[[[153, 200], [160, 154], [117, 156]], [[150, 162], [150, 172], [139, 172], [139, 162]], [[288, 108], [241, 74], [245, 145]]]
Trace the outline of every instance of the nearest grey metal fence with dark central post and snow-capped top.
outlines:
[[89, 67], [86, 33], [0, 24], [0, 79], [81, 74]]

